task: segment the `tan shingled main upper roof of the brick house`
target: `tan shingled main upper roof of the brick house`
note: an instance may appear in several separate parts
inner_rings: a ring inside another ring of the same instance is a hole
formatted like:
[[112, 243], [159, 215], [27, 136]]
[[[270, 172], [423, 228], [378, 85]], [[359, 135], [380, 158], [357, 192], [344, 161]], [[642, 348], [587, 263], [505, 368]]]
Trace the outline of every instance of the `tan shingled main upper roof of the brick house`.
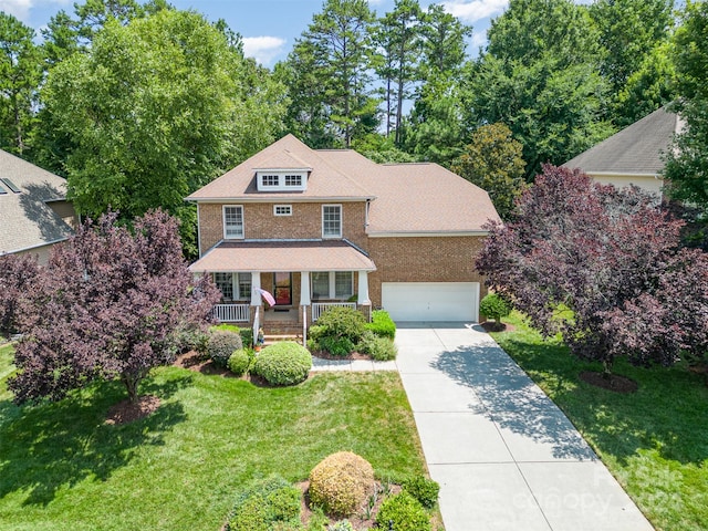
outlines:
[[[287, 166], [290, 164], [290, 166]], [[308, 189], [259, 192], [256, 170], [312, 168]], [[288, 135], [190, 195], [196, 201], [366, 200], [369, 236], [469, 233], [499, 220], [489, 195], [437, 164], [379, 165], [351, 149], [314, 150]]]

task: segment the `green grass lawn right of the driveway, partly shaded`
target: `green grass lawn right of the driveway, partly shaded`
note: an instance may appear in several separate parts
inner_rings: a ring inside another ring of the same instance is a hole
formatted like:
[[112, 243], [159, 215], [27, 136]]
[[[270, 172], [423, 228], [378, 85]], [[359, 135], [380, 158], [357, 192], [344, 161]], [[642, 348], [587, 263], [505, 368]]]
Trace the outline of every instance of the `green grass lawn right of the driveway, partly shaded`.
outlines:
[[518, 313], [516, 330], [492, 334], [565, 412], [657, 530], [708, 529], [708, 387], [684, 367], [614, 372], [639, 385], [617, 394], [585, 384], [581, 362], [558, 340], [543, 341]]

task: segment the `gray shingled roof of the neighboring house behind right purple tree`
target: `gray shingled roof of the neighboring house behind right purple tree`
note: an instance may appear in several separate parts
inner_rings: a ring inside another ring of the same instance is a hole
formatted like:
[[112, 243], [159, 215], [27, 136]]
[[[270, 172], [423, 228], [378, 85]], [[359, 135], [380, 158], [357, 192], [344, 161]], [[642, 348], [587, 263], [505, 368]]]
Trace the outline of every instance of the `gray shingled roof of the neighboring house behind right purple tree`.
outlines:
[[563, 166], [586, 174], [657, 175], [664, 169], [663, 155], [680, 128], [679, 116], [662, 107]]

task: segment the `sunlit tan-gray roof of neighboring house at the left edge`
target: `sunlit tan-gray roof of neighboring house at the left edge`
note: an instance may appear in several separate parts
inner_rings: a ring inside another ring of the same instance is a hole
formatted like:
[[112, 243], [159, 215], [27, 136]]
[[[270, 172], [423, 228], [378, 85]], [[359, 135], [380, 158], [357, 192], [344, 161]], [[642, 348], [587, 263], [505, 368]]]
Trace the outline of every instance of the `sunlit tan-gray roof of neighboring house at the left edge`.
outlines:
[[0, 178], [10, 179], [19, 194], [0, 194], [0, 254], [30, 250], [67, 239], [71, 228], [48, 202], [66, 198], [66, 180], [14, 155], [0, 150]]

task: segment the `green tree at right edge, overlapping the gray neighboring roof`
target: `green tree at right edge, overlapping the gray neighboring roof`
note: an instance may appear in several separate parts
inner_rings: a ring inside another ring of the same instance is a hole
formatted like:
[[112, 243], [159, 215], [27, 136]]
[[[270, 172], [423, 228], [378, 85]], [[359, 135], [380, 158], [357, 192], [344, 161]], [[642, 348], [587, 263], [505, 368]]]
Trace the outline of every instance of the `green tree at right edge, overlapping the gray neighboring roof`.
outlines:
[[675, 199], [698, 205], [708, 216], [708, 3], [686, 6], [676, 32], [674, 61], [685, 127], [667, 154], [664, 177]]

